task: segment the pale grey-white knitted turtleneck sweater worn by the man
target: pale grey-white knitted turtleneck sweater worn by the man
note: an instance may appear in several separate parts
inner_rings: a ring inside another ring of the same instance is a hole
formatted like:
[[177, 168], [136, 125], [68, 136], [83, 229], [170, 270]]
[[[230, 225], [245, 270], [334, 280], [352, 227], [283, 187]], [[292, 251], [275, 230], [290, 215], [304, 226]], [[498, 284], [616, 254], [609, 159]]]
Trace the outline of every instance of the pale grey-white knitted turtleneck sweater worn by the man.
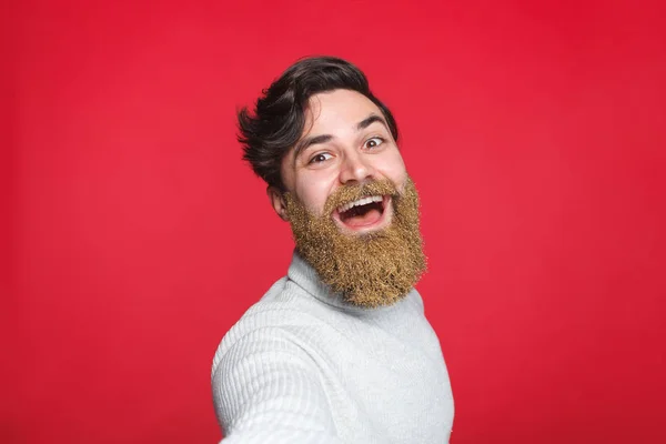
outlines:
[[418, 293], [352, 306], [299, 254], [222, 340], [212, 386], [225, 444], [442, 444], [453, 423]]

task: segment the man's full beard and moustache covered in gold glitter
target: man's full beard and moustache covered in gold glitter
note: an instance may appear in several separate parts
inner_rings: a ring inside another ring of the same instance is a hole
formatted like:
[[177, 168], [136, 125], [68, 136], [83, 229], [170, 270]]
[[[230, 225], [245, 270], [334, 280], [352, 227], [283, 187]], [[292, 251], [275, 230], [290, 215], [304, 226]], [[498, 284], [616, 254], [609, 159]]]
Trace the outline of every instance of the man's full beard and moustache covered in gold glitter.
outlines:
[[[341, 232], [332, 212], [371, 195], [391, 195], [390, 225], [364, 234]], [[424, 273], [418, 194], [411, 179], [403, 192], [387, 180], [342, 186], [326, 200], [323, 216], [312, 214], [291, 193], [285, 193], [285, 201], [296, 250], [322, 282], [349, 303], [363, 307], [391, 305], [404, 297]]]

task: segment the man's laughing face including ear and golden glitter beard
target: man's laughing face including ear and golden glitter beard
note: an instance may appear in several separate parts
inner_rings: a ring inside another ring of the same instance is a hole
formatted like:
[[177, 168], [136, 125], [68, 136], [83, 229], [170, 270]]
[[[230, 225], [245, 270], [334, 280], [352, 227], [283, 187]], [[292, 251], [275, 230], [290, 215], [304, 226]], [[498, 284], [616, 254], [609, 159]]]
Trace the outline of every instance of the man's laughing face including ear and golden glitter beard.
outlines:
[[313, 95], [301, 140], [271, 189], [299, 253], [351, 304], [405, 296], [425, 270], [418, 195], [380, 109], [336, 90]]

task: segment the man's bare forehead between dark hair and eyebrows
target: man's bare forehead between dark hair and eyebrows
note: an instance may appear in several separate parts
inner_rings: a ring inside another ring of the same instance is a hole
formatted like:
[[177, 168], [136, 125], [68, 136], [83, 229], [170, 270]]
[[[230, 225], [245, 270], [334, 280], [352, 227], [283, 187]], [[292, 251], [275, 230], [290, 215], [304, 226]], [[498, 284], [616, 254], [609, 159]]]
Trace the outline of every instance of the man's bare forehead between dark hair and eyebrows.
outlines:
[[379, 107], [360, 92], [350, 90], [320, 92], [307, 101], [302, 137], [349, 130], [371, 113], [383, 115]]

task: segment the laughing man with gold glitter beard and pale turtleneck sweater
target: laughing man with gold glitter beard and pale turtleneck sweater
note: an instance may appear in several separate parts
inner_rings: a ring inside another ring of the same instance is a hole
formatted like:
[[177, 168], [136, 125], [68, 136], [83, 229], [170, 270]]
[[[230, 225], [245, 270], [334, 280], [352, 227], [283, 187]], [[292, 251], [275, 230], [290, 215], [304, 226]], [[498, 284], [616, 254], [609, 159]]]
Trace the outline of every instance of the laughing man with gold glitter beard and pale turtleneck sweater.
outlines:
[[365, 75], [304, 59], [239, 113], [296, 250], [213, 360], [225, 443], [446, 443], [453, 397], [414, 284], [418, 198]]

